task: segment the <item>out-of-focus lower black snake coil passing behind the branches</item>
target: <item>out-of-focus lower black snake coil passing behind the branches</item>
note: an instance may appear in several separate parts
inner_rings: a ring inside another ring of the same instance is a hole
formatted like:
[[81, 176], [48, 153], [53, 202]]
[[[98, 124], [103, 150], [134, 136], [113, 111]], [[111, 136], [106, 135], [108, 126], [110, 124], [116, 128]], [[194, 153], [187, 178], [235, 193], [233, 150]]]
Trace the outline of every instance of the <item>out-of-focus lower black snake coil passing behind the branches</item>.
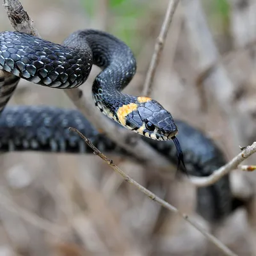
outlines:
[[[226, 163], [223, 153], [212, 140], [185, 122], [176, 122], [179, 126], [177, 137], [184, 151], [189, 175], [207, 176]], [[127, 156], [123, 148], [94, 129], [79, 111], [47, 106], [6, 107], [0, 115], [0, 152], [32, 150], [92, 154], [92, 149], [68, 127], [81, 131], [104, 153]], [[172, 141], [156, 141], [146, 137], [143, 140], [171, 163], [177, 164]], [[228, 175], [212, 186], [197, 189], [196, 210], [208, 221], [223, 220], [236, 209], [236, 202], [231, 195]]]

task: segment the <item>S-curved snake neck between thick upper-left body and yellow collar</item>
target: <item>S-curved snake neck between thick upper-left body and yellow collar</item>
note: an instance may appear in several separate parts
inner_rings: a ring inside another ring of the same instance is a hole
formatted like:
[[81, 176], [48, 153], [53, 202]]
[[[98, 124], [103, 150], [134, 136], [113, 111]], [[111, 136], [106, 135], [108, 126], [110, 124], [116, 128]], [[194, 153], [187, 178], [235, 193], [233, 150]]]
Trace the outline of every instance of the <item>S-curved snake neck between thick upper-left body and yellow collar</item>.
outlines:
[[124, 42], [101, 31], [86, 30], [72, 33], [63, 44], [69, 47], [88, 44], [92, 49], [93, 64], [103, 69], [92, 87], [99, 108], [102, 101], [115, 113], [120, 106], [137, 102], [137, 97], [120, 92], [136, 72], [136, 60]]

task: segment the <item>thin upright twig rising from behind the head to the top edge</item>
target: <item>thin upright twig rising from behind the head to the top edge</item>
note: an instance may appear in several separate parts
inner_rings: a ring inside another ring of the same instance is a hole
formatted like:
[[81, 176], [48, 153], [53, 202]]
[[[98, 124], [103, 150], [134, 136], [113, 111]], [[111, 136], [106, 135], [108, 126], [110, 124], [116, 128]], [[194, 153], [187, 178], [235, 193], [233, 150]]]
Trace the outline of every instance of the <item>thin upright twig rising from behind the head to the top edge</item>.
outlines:
[[150, 95], [150, 92], [152, 90], [152, 83], [154, 80], [154, 76], [156, 74], [156, 68], [159, 63], [159, 60], [161, 58], [161, 53], [163, 52], [164, 42], [166, 40], [166, 36], [168, 33], [168, 30], [170, 28], [170, 25], [172, 23], [172, 18], [175, 13], [175, 10], [177, 8], [177, 5], [179, 3], [179, 0], [170, 0], [168, 4], [168, 8], [164, 17], [164, 22], [161, 27], [161, 31], [159, 33], [159, 36], [156, 40], [154, 53], [152, 56], [152, 59], [150, 61], [150, 65], [148, 68], [146, 81], [143, 88], [143, 95]]

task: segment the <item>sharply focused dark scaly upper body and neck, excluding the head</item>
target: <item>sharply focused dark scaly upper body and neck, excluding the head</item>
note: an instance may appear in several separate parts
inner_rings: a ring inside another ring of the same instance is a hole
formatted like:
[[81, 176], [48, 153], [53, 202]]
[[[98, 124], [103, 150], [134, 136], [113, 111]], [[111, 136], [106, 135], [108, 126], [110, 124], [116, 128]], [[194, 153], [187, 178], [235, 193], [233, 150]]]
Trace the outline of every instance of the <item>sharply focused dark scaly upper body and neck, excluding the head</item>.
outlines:
[[[122, 92], [136, 72], [136, 60], [124, 42], [102, 31], [76, 31], [63, 45], [19, 32], [0, 33], [0, 69], [51, 88], [74, 88], [86, 81], [92, 65], [104, 69], [92, 91], [96, 106], [111, 113], [137, 97]], [[113, 115], [113, 114], [112, 114]]]

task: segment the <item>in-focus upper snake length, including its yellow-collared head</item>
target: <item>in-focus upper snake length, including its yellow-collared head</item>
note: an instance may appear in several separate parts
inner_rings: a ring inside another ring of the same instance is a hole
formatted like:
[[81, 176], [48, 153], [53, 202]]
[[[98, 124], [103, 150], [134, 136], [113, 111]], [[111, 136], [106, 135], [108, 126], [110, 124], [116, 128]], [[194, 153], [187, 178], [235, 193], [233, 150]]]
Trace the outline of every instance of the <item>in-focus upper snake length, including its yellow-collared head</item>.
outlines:
[[35, 84], [75, 88], [86, 81], [93, 64], [102, 68], [92, 86], [95, 106], [102, 113], [153, 140], [177, 134], [171, 113], [156, 100], [121, 92], [136, 72], [136, 60], [115, 36], [76, 31], [59, 45], [25, 33], [0, 33], [0, 68]]

